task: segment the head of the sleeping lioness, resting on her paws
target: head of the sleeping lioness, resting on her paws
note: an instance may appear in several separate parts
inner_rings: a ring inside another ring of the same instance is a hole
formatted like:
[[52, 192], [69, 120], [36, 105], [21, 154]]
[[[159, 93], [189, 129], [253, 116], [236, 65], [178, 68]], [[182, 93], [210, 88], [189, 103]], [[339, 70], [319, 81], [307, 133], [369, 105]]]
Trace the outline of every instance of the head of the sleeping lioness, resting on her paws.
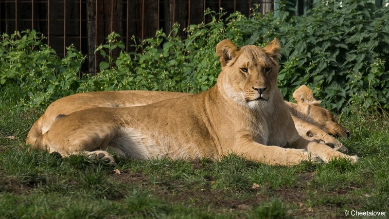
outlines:
[[293, 93], [293, 98], [299, 110], [305, 114], [308, 123], [336, 136], [350, 136], [350, 131], [338, 123], [334, 114], [320, 107], [320, 101], [314, 98], [312, 90], [307, 86], [302, 85], [298, 88]]

